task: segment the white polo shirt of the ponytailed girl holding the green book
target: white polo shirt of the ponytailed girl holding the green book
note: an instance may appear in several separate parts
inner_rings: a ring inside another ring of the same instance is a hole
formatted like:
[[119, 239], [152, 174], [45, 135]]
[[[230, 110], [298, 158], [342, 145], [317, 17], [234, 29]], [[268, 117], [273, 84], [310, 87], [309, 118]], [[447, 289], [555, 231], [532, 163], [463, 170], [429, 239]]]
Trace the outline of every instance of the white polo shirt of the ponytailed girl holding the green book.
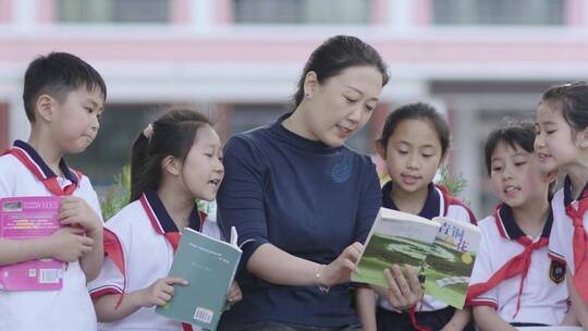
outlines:
[[[209, 220], [200, 222], [196, 206], [191, 216], [191, 228], [208, 236], [220, 238], [220, 230]], [[119, 243], [114, 253], [107, 252], [102, 270], [89, 283], [91, 297], [105, 294], [122, 294], [151, 285], [156, 280], [168, 277], [174, 249], [166, 234], [177, 233], [175, 223], [155, 192], [146, 192], [106, 222], [106, 231]], [[122, 254], [125, 274], [111, 256]], [[122, 296], [124, 301], [124, 295]], [[182, 330], [180, 322], [155, 312], [155, 307], [140, 308], [114, 322], [101, 323], [100, 330]], [[194, 328], [197, 330], [197, 328]]]

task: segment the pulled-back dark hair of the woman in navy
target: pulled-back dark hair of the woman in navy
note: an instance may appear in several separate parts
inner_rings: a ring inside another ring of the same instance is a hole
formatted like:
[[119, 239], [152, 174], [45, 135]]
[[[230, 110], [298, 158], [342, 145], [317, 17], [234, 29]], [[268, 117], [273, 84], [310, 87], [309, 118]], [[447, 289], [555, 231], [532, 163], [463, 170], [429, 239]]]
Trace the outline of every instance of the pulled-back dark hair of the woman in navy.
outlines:
[[352, 66], [373, 66], [382, 74], [382, 86], [388, 83], [388, 66], [373, 47], [357, 37], [334, 36], [315, 49], [306, 61], [294, 94], [294, 108], [304, 99], [304, 81], [308, 72], [315, 72], [319, 84], [323, 84]]

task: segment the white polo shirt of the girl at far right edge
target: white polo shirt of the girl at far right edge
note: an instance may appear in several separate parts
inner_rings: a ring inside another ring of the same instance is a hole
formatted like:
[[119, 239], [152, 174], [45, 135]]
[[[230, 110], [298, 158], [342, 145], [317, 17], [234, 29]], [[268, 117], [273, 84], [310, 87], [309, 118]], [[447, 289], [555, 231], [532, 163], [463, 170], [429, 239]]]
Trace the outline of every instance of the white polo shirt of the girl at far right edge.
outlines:
[[[588, 184], [584, 187], [580, 197], [587, 195]], [[572, 197], [569, 177], [566, 177], [564, 186], [555, 193], [551, 200], [551, 208], [553, 208], [553, 230], [551, 230], [551, 236], [549, 237], [549, 256], [554, 260], [566, 263], [572, 274], [574, 274], [576, 270], [576, 265], [574, 263], [574, 247], [572, 244], [574, 238], [574, 225], [572, 219], [565, 213], [565, 207], [574, 200], [577, 199]], [[583, 223], [585, 231], [588, 231], [588, 213], [584, 214]]]

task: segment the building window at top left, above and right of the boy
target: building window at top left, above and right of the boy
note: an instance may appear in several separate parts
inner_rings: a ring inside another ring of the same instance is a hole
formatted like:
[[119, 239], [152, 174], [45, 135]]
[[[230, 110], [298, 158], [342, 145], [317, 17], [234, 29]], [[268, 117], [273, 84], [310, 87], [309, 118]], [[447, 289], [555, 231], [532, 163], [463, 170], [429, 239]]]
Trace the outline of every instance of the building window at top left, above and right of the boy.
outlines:
[[59, 21], [75, 23], [166, 23], [171, 0], [59, 0]]

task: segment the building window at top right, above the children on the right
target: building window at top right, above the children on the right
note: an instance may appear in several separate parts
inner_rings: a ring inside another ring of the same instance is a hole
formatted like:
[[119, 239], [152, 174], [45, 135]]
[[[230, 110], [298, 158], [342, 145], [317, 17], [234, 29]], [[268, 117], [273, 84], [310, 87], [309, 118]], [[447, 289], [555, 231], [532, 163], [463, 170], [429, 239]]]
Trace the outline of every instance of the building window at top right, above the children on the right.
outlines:
[[565, 0], [432, 0], [436, 25], [563, 25]]

